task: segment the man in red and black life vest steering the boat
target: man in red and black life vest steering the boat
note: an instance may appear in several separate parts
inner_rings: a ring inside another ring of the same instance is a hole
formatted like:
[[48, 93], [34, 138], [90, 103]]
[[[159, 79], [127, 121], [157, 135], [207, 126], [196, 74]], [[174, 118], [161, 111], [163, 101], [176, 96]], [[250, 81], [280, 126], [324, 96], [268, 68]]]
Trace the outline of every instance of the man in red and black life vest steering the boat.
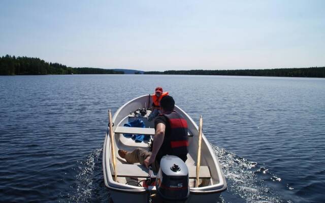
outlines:
[[187, 122], [176, 111], [175, 101], [172, 96], [164, 96], [160, 101], [161, 114], [154, 121], [155, 134], [152, 152], [137, 148], [133, 152], [118, 150], [120, 157], [129, 163], [141, 163], [158, 172], [159, 163], [165, 155], [175, 155], [184, 162], [188, 153]]

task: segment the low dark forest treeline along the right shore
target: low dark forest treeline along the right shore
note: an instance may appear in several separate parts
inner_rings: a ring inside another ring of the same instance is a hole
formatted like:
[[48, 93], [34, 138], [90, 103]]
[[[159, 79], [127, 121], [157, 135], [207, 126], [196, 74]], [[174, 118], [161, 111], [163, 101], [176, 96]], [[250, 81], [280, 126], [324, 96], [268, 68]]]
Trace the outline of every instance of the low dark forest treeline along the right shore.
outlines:
[[190, 70], [190, 71], [150, 71], [144, 74], [163, 75], [220, 75], [220, 76], [276, 76], [276, 77], [311, 77], [325, 78], [325, 67], [304, 67], [295, 69], [261, 69], [261, 70]]

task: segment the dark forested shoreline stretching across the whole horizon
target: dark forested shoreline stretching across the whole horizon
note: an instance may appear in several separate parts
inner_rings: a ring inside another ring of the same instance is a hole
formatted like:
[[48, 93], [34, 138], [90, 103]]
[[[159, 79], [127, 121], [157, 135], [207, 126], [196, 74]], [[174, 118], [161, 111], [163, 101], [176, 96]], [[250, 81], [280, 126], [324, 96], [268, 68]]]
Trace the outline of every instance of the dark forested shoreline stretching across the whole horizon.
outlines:
[[206, 76], [265, 76], [265, 77], [305, 77], [325, 78], [324, 67], [303, 67], [289, 69], [259, 70], [190, 70], [190, 71], [136, 71], [124, 69], [98, 69], [93, 67], [68, 67], [40, 58], [0, 57], [0, 75], [85, 75], [85, 74], [145, 74], [145, 75], [206, 75]]

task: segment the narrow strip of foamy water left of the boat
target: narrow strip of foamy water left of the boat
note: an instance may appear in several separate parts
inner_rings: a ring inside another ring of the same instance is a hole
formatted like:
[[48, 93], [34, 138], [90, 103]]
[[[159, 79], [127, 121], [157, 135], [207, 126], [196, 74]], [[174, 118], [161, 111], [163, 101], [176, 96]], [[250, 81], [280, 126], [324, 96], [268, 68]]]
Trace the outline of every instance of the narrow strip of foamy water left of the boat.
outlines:
[[103, 149], [95, 149], [86, 160], [79, 161], [78, 174], [76, 175], [77, 186], [75, 194], [70, 196], [73, 202], [90, 202], [94, 166], [98, 161]]

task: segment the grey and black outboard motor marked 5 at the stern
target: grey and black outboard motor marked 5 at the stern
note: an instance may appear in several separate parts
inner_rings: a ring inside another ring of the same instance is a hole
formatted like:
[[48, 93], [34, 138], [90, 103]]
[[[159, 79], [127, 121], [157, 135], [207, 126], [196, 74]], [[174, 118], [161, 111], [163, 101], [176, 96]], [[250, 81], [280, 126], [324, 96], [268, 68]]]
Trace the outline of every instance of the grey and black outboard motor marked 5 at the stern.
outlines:
[[188, 169], [182, 159], [173, 155], [161, 158], [156, 190], [165, 201], [185, 201], [188, 198]]

